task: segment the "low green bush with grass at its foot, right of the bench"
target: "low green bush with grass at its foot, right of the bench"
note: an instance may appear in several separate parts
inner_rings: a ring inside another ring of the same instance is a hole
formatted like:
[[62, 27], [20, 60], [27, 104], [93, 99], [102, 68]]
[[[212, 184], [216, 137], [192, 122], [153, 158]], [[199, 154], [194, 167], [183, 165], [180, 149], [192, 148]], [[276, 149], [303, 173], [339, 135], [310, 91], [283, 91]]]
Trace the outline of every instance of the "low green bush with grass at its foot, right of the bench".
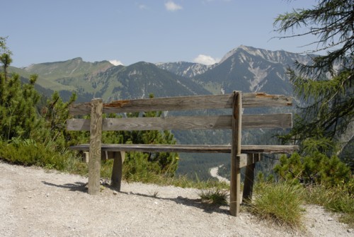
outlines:
[[354, 179], [346, 163], [327, 155], [335, 145], [330, 139], [306, 139], [304, 155], [281, 156], [274, 171], [280, 180], [301, 183], [306, 202], [340, 212], [342, 221], [354, 226]]

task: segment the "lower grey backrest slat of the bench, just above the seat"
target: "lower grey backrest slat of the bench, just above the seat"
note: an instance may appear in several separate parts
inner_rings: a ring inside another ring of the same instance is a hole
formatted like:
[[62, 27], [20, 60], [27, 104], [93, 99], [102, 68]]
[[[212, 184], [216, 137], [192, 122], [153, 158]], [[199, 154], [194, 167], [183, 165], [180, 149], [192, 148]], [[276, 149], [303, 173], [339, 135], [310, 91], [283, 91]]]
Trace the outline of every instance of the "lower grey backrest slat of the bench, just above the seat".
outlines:
[[[243, 115], [244, 128], [292, 127], [292, 114]], [[89, 120], [67, 120], [67, 129], [89, 131]], [[232, 129], [231, 115], [176, 116], [176, 117], [128, 117], [103, 120], [103, 131], [175, 130], [175, 129]]]

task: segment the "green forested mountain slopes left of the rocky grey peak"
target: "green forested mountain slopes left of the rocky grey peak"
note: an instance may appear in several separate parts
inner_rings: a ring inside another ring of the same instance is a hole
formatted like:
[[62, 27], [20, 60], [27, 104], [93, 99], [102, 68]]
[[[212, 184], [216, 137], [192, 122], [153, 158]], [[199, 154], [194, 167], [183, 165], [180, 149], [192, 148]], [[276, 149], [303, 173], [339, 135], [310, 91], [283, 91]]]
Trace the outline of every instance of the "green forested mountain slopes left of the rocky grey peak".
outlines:
[[59, 91], [64, 99], [76, 92], [78, 101], [103, 98], [105, 101], [155, 97], [210, 94], [202, 86], [183, 76], [156, 67], [155, 64], [137, 62], [130, 66], [113, 66], [108, 61], [84, 62], [81, 58], [64, 62], [33, 64], [11, 71], [29, 77], [38, 74], [38, 86]]

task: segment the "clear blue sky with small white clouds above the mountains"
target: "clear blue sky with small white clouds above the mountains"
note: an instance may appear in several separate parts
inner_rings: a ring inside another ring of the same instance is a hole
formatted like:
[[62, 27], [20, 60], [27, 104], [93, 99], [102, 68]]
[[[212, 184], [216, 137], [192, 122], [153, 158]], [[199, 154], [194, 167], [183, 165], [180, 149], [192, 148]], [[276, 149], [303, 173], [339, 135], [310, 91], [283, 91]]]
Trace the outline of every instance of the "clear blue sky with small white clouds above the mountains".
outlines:
[[[84, 61], [212, 64], [239, 45], [303, 52], [313, 38], [278, 40], [273, 21], [315, 0], [11, 0], [0, 36], [13, 66]], [[312, 46], [312, 48], [315, 47]]]

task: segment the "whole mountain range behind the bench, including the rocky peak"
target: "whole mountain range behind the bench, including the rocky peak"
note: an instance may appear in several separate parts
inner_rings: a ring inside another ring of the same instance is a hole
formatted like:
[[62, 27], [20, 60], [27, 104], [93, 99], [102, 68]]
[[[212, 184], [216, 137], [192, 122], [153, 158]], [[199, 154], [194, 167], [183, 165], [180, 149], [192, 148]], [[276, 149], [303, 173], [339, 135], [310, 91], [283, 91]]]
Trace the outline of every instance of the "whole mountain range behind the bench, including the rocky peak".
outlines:
[[293, 67], [295, 60], [307, 64], [311, 56], [241, 45], [219, 63], [208, 66], [192, 62], [114, 66], [108, 61], [84, 62], [78, 57], [11, 70], [24, 77], [38, 74], [39, 86], [59, 91], [64, 99], [76, 92], [80, 102], [147, 98], [149, 93], [166, 97], [262, 91], [291, 96], [286, 69]]

